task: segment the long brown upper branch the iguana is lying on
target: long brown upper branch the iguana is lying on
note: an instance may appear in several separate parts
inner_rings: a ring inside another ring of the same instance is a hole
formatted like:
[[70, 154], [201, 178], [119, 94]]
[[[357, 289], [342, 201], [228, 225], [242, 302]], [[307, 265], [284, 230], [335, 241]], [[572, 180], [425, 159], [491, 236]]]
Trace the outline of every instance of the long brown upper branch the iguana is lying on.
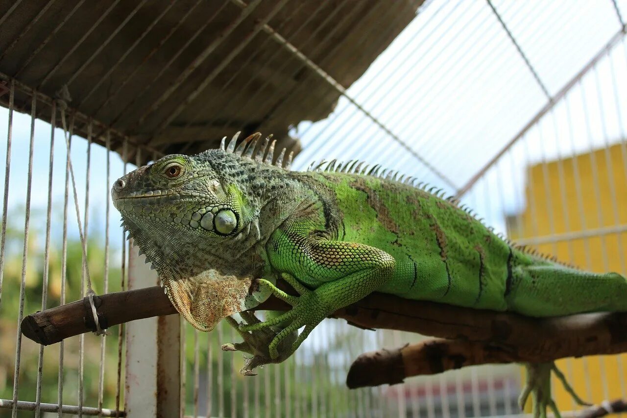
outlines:
[[[95, 297], [95, 302], [102, 328], [176, 312], [160, 287], [105, 294]], [[288, 306], [271, 298], [257, 309], [285, 310]], [[510, 352], [512, 358], [539, 358], [541, 353], [549, 360], [627, 351], [627, 313], [539, 319], [375, 293], [333, 316], [361, 328], [489, 342]], [[44, 345], [95, 330], [86, 299], [26, 316], [21, 328], [25, 336]]]

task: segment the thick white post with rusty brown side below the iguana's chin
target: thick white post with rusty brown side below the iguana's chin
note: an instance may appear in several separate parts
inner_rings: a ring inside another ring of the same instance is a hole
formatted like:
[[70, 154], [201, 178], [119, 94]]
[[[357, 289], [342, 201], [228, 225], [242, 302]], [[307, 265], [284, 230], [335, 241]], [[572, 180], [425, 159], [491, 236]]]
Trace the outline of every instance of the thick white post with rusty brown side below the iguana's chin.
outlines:
[[[155, 286], [159, 278], [145, 256], [131, 246], [129, 290]], [[127, 417], [179, 417], [181, 414], [181, 326], [178, 315], [126, 325]]]

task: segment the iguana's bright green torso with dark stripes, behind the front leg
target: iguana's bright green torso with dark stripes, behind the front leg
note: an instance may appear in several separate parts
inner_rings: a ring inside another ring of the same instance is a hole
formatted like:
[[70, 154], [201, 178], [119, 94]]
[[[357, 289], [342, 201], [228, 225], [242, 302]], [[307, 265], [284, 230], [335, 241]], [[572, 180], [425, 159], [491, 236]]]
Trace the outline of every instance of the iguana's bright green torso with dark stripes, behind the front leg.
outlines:
[[452, 198], [393, 176], [324, 169], [293, 176], [319, 193], [332, 191], [341, 220], [337, 239], [393, 255], [394, 276], [378, 291], [528, 316], [627, 310], [623, 276], [582, 272], [532, 254]]

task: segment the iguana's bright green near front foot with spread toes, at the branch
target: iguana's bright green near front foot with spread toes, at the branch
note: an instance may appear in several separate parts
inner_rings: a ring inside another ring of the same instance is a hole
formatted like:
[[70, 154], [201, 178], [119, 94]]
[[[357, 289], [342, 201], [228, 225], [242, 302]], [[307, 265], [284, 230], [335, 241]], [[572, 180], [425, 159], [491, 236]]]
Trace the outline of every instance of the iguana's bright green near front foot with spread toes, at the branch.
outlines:
[[[309, 333], [314, 330], [315, 326], [333, 311], [317, 292], [307, 289], [307, 287], [300, 284], [294, 277], [287, 273], [283, 273], [282, 276], [300, 296], [289, 295], [264, 279], [260, 279], [260, 286], [268, 287], [272, 294], [292, 305], [292, 309], [277, 316], [277, 318], [268, 319], [261, 323], [248, 325], [240, 324], [240, 331], [243, 332], [268, 330], [272, 326], [281, 324], [283, 329], [273, 338], [270, 345], [268, 345], [268, 353], [273, 360], [280, 357], [287, 358], [292, 355], [305, 338], [307, 338]], [[290, 346], [285, 346], [283, 341], [285, 341], [287, 336], [292, 335], [292, 333], [295, 333], [295, 331], [303, 326], [305, 329], [301, 331], [298, 338], [296, 338]]]

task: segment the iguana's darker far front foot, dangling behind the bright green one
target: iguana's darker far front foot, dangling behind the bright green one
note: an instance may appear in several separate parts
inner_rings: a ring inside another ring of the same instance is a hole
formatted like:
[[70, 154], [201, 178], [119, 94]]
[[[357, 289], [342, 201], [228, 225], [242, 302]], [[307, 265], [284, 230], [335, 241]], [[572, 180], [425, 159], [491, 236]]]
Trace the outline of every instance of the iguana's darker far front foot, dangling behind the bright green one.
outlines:
[[[240, 316], [246, 323], [248, 324], [260, 324], [261, 321], [255, 316], [255, 314], [250, 312], [241, 312]], [[292, 333], [289, 338], [283, 340], [282, 344], [279, 346], [279, 355], [276, 358], [271, 358], [270, 353], [268, 351], [268, 346], [270, 346], [271, 341], [277, 336], [277, 333], [270, 328], [266, 328], [263, 330], [255, 331], [253, 333], [245, 332], [240, 330], [240, 323], [235, 319], [228, 316], [226, 318], [228, 323], [235, 328], [240, 334], [241, 338], [244, 340], [241, 343], [226, 343], [221, 346], [223, 351], [242, 351], [243, 353], [248, 353], [251, 357], [244, 357], [244, 366], [241, 368], [240, 373], [245, 376], [256, 376], [253, 370], [256, 367], [263, 366], [270, 363], [280, 363], [286, 358], [288, 358], [292, 351], [289, 351], [293, 341], [296, 339], [296, 333]], [[287, 348], [288, 350], [283, 350], [283, 348]], [[283, 351], [286, 351], [286, 354], [283, 355]]]

